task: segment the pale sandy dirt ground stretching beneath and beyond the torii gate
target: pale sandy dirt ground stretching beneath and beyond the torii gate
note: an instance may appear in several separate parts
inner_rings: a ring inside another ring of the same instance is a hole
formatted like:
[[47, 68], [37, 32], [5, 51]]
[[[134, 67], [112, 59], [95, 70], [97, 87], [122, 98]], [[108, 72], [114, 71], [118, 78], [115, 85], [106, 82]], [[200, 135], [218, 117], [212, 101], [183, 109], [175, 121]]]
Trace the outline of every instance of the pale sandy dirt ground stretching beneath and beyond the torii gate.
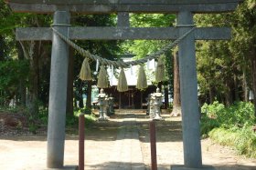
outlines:
[[[85, 169], [149, 169], [148, 119], [144, 113], [118, 113], [108, 123], [86, 129]], [[132, 117], [131, 117], [132, 116]], [[165, 116], [157, 127], [158, 169], [183, 164], [180, 118]], [[67, 135], [65, 165], [78, 165], [78, 136]], [[0, 137], [0, 170], [35, 170], [46, 166], [46, 136]], [[224, 170], [256, 170], [256, 160], [202, 140], [203, 164]], [[140, 156], [141, 155], [141, 156]], [[128, 167], [128, 168], [127, 168]]]

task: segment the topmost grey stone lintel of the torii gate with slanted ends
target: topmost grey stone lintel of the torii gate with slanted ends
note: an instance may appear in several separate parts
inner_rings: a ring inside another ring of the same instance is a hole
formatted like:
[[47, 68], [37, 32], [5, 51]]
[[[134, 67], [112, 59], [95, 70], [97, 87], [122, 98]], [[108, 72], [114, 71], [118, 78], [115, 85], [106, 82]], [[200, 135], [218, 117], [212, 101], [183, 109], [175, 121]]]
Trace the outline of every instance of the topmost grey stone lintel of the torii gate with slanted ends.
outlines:
[[80, 14], [225, 13], [244, 0], [5, 0], [19, 13], [52, 14], [57, 10]]

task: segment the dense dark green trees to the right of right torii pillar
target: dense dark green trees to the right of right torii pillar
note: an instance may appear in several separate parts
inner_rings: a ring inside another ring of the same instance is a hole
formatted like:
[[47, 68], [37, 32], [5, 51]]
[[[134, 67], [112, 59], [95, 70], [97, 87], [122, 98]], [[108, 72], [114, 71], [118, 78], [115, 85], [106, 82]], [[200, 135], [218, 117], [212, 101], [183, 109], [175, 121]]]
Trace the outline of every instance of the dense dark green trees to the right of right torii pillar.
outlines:
[[201, 26], [226, 25], [232, 28], [230, 41], [197, 44], [201, 47], [197, 69], [202, 94], [206, 98], [210, 95], [211, 102], [217, 98], [226, 105], [235, 100], [247, 100], [248, 88], [256, 94], [255, 1], [245, 1], [232, 14], [197, 15], [196, 20]]

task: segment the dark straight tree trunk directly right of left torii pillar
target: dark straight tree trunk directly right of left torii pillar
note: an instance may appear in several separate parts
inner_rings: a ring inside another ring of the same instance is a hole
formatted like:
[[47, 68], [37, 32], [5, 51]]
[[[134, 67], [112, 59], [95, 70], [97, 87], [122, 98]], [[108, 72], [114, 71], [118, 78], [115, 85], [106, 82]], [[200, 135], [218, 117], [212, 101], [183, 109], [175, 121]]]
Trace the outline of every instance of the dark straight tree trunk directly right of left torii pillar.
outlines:
[[67, 116], [74, 115], [73, 107], [73, 81], [74, 81], [74, 49], [69, 48], [69, 71], [68, 71], [68, 89], [67, 89]]

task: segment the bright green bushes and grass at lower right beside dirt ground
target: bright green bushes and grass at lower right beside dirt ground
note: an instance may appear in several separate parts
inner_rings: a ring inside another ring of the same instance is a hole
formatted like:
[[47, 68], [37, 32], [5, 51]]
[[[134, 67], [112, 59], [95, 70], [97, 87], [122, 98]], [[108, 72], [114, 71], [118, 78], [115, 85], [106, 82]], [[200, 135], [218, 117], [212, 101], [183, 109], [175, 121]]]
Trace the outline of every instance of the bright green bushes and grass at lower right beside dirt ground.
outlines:
[[256, 134], [252, 131], [254, 106], [237, 102], [225, 107], [219, 102], [203, 105], [201, 134], [221, 145], [231, 145], [239, 154], [256, 157]]

